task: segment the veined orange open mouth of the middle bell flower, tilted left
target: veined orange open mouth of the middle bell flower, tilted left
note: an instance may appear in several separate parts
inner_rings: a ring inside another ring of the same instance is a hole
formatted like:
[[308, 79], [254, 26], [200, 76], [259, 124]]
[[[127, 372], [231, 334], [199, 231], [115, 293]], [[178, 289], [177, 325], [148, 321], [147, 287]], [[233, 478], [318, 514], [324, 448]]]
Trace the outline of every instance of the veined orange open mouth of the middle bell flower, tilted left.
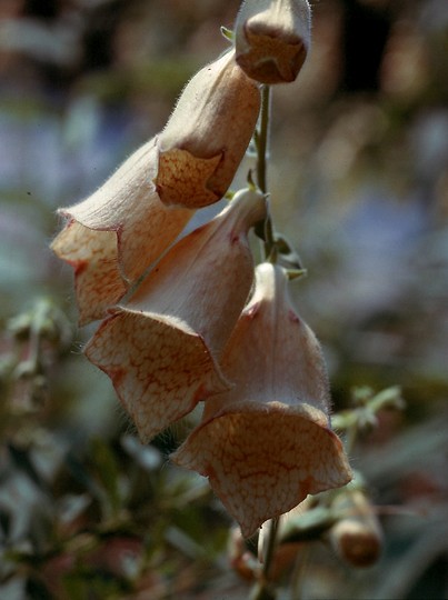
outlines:
[[119, 309], [103, 321], [86, 354], [111, 378], [143, 442], [205, 396], [228, 388], [202, 339], [157, 314]]

